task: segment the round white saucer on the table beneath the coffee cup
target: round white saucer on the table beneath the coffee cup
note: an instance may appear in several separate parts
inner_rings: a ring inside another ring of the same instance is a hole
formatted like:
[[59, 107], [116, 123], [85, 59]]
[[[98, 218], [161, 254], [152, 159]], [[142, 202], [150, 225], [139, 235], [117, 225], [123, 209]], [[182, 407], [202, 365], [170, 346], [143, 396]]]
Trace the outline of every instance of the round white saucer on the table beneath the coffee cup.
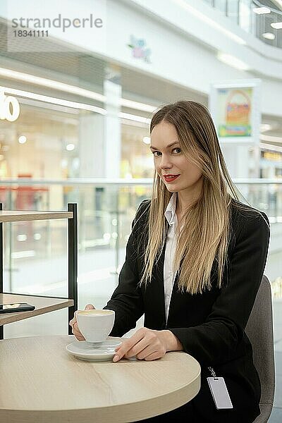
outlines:
[[121, 343], [119, 338], [115, 339], [114, 337], [106, 339], [99, 345], [89, 345], [86, 341], [76, 340], [66, 345], [66, 350], [80, 360], [110, 361], [116, 354], [114, 349]]

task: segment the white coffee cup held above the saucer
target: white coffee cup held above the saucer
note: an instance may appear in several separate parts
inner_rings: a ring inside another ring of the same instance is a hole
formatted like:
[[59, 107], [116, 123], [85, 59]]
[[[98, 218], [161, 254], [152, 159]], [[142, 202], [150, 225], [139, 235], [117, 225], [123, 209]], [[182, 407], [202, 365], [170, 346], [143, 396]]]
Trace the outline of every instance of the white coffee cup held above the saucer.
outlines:
[[88, 309], [76, 312], [78, 329], [89, 343], [106, 340], [114, 327], [114, 310]]

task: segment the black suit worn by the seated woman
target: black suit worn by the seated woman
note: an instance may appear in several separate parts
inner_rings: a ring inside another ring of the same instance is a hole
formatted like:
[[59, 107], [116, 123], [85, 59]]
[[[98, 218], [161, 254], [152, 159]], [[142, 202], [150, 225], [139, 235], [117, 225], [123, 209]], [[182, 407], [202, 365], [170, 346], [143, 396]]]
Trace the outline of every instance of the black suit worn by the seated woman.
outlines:
[[[214, 422], [252, 422], [259, 415], [260, 383], [252, 362], [252, 345], [245, 326], [262, 280], [269, 245], [269, 221], [255, 209], [247, 212], [231, 204], [231, 242], [221, 289], [216, 287], [216, 266], [212, 270], [212, 289], [190, 295], [173, 285], [166, 325], [164, 306], [164, 252], [154, 266], [151, 283], [137, 287], [142, 276], [150, 200], [140, 204], [128, 239], [126, 257], [118, 287], [106, 309], [114, 309], [116, 320], [111, 336], [123, 336], [136, 326], [145, 313], [144, 326], [169, 329], [183, 350], [200, 362], [201, 389], [192, 400], [199, 415]], [[264, 220], [265, 219], [265, 220]], [[140, 242], [141, 241], [141, 242]], [[207, 367], [226, 381], [233, 410], [216, 410], [207, 384]], [[185, 416], [183, 416], [185, 417]], [[200, 421], [200, 420], [199, 420]]]

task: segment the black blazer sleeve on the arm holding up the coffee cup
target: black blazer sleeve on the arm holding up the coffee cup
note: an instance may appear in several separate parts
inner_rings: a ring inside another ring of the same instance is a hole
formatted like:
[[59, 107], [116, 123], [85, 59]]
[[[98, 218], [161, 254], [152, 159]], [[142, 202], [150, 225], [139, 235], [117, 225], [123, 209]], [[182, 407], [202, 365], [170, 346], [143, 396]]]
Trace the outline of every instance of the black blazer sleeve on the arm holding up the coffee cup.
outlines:
[[144, 213], [144, 200], [137, 209], [132, 223], [132, 231], [126, 245], [125, 262], [118, 277], [118, 286], [111, 295], [104, 309], [114, 310], [116, 313], [114, 328], [110, 336], [123, 336], [124, 333], [135, 328], [136, 321], [144, 314], [144, 304], [141, 289], [137, 286], [139, 274], [137, 271], [137, 228], [138, 221]]

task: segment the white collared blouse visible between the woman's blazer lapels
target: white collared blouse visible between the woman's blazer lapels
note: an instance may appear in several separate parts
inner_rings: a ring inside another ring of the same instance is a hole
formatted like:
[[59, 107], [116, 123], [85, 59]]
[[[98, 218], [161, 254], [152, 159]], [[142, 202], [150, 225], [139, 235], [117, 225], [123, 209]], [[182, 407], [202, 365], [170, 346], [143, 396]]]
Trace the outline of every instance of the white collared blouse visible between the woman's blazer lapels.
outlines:
[[168, 309], [171, 302], [171, 293], [173, 288], [176, 272], [173, 274], [173, 258], [176, 252], [176, 199], [177, 192], [173, 192], [171, 200], [169, 200], [164, 216], [168, 221], [169, 227], [166, 235], [166, 250], [164, 253], [164, 305], [166, 308], [166, 322], [168, 319]]

